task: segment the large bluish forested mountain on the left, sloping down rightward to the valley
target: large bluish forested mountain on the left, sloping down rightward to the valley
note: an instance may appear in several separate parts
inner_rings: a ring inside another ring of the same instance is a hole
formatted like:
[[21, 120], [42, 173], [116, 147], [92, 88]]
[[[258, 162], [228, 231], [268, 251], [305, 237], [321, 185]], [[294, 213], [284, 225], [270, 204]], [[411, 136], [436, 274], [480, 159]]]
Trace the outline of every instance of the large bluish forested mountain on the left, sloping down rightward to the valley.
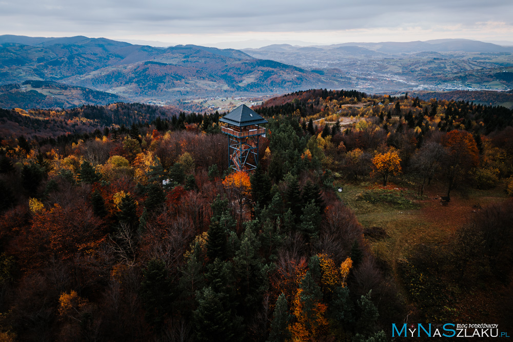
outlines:
[[321, 75], [234, 49], [195, 45], [164, 49], [84, 36], [0, 36], [0, 82], [31, 79], [94, 88], [131, 100], [346, 85], [330, 73]]

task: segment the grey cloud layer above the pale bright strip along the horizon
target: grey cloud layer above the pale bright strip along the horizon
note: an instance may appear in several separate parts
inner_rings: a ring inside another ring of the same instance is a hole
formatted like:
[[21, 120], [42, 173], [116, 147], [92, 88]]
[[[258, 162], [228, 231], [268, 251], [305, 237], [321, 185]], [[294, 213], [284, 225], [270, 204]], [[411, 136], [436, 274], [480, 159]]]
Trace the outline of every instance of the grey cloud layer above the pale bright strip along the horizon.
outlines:
[[313, 1], [22, 0], [0, 3], [0, 30], [62, 32], [218, 33], [344, 30], [401, 25], [474, 25], [511, 22], [509, 0]]

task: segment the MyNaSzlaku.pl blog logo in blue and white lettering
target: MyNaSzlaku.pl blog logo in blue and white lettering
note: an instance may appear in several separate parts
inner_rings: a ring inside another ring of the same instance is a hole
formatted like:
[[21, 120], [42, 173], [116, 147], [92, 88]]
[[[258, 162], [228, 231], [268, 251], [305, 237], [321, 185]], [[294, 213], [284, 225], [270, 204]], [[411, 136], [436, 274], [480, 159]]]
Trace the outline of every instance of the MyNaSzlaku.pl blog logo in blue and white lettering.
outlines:
[[392, 337], [510, 337], [498, 324], [422, 324], [392, 323]]

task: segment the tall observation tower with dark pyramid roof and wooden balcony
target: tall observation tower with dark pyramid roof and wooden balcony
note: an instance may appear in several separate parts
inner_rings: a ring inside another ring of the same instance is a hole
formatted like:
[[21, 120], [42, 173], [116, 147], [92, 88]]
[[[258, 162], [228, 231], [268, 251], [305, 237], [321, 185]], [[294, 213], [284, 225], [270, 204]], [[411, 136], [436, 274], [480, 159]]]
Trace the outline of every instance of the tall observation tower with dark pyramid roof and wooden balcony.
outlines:
[[248, 106], [241, 105], [221, 119], [228, 124], [221, 131], [228, 135], [228, 167], [237, 171], [251, 171], [258, 165], [258, 143], [261, 135], [265, 136], [267, 120], [252, 111]]

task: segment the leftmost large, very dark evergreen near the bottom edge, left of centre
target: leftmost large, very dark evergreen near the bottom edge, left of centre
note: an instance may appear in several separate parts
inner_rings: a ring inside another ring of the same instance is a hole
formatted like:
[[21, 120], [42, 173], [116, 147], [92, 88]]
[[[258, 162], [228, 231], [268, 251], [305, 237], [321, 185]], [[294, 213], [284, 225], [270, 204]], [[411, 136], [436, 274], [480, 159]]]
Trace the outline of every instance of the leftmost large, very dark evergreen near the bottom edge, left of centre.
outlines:
[[155, 330], [160, 331], [171, 307], [171, 285], [163, 260], [152, 259], [143, 270], [141, 299], [146, 310], [144, 318]]

